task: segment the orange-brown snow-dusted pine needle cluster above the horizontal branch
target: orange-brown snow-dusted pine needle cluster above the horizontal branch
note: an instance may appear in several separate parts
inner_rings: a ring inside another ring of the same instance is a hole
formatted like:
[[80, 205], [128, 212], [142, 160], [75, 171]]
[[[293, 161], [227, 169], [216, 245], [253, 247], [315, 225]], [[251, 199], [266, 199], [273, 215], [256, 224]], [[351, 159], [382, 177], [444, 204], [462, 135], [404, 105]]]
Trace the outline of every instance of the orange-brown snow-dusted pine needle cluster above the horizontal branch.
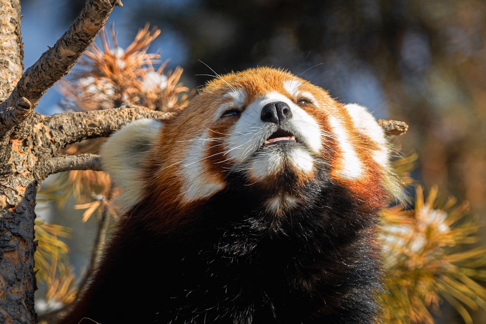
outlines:
[[[193, 92], [179, 80], [183, 69], [165, 69], [159, 53], [148, 53], [160, 30], [146, 24], [126, 48], [118, 46], [113, 25], [100, 32], [95, 43], [78, 62], [74, 73], [60, 84], [67, 110], [90, 111], [141, 105], [153, 110], [176, 111], [188, 103]], [[158, 68], [156, 68], [158, 65]]]

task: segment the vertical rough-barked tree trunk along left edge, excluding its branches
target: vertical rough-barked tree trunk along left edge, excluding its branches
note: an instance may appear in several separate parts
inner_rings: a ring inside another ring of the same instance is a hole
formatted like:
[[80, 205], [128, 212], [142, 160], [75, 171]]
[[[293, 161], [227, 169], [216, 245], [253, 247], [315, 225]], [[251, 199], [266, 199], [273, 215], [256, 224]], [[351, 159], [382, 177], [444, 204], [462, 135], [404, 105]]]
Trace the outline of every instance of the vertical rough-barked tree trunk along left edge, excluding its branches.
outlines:
[[[0, 0], [0, 98], [5, 101], [22, 76], [20, 1]], [[0, 322], [33, 323], [34, 219], [37, 182], [32, 138], [5, 134], [0, 154]]]

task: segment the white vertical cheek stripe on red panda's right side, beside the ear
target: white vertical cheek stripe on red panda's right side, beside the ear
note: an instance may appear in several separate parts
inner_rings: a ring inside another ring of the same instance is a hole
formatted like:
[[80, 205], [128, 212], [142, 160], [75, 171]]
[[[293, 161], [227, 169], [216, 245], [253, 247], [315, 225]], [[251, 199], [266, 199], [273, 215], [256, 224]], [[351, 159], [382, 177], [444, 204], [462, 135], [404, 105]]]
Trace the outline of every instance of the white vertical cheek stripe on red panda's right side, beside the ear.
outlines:
[[329, 116], [329, 123], [332, 133], [336, 136], [336, 142], [341, 149], [341, 158], [335, 174], [344, 180], [359, 179], [363, 174], [363, 164], [349, 142], [346, 128], [343, 127], [339, 119]]

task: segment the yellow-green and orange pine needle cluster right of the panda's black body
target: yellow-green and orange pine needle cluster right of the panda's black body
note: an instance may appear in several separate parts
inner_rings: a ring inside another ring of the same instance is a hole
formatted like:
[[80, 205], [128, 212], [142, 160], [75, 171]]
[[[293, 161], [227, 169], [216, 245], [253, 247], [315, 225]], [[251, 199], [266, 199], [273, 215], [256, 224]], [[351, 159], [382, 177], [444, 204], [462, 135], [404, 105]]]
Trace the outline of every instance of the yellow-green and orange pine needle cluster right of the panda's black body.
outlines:
[[486, 289], [476, 281], [486, 281], [486, 247], [474, 247], [479, 222], [467, 202], [440, 199], [436, 187], [424, 197], [418, 186], [414, 202], [382, 213], [384, 323], [434, 324], [445, 300], [472, 324], [468, 308], [486, 309]]

